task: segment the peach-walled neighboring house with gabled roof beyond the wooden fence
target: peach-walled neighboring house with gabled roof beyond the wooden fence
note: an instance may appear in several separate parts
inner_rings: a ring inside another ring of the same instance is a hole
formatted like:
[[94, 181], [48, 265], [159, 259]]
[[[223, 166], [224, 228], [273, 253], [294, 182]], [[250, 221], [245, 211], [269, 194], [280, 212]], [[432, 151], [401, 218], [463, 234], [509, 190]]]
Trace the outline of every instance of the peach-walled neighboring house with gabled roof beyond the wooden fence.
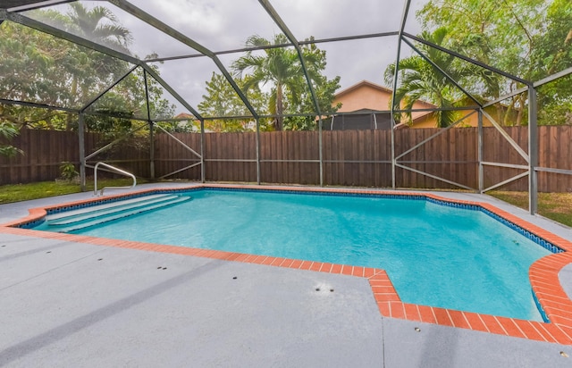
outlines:
[[[341, 108], [332, 119], [324, 120], [324, 130], [389, 130], [391, 128], [390, 101], [392, 91], [373, 82], [362, 80], [359, 83], [342, 89], [333, 99], [332, 105], [341, 103]], [[417, 101], [413, 109], [431, 109], [435, 105], [425, 101]], [[460, 116], [471, 113], [459, 113]], [[435, 121], [431, 112], [411, 113], [413, 119], [411, 124], [402, 122], [397, 128], [435, 128]], [[478, 115], [476, 113], [461, 121], [459, 126], [476, 127], [478, 125]], [[484, 125], [490, 126], [489, 121], [484, 120]]]

